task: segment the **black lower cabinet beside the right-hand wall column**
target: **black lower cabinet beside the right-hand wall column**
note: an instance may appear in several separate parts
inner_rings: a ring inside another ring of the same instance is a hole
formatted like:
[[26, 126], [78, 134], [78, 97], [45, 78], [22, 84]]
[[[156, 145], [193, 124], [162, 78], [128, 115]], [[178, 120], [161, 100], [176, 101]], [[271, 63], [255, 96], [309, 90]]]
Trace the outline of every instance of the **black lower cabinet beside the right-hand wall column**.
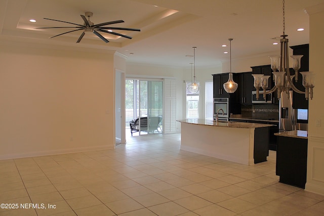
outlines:
[[278, 136], [276, 175], [279, 182], [305, 189], [307, 139]]

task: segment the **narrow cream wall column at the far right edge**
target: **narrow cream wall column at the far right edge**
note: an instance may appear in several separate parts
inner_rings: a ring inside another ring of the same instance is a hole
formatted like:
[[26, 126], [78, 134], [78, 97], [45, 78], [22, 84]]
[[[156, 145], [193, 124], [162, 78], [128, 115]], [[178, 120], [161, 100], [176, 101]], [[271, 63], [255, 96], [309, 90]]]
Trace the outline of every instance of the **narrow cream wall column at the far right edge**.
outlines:
[[[309, 70], [315, 73], [314, 98], [309, 101], [307, 183], [305, 190], [324, 195], [324, 4], [306, 9], [309, 14]], [[319, 121], [319, 125], [317, 124]]]

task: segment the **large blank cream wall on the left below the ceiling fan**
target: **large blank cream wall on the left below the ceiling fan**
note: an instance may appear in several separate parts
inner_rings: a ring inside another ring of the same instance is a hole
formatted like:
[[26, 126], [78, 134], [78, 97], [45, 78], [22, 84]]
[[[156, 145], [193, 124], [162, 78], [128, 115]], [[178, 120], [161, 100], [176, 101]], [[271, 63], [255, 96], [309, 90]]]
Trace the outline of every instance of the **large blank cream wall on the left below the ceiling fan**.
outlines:
[[113, 53], [0, 41], [0, 159], [113, 148]]

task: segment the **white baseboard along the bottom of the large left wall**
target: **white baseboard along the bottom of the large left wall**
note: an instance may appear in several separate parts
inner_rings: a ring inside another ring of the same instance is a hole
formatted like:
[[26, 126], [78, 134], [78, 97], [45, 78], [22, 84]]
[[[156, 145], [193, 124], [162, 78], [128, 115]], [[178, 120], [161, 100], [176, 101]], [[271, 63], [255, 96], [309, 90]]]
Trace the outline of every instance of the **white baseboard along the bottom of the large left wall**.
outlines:
[[69, 154], [69, 153], [77, 153], [77, 152], [84, 152], [84, 151], [96, 151], [96, 150], [113, 149], [113, 148], [114, 148], [114, 146], [104, 145], [104, 146], [91, 146], [91, 147], [81, 147], [81, 148], [73, 148], [73, 149], [34, 151], [34, 152], [26, 152], [26, 153], [21, 153], [21, 154], [0, 155], [0, 160], [23, 158], [23, 157], [38, 157], [38, 156], [55, 155], [55, 154]]

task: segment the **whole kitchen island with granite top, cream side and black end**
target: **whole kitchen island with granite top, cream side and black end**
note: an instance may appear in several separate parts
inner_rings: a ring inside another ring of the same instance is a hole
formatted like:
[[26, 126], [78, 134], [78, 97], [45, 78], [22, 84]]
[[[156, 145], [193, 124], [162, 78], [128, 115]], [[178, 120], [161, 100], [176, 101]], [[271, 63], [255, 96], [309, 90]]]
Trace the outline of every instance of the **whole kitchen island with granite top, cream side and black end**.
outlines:
[[267, 160], [269, 126], [246, 122], [184, 119], [181, 149], [242, 164]]

